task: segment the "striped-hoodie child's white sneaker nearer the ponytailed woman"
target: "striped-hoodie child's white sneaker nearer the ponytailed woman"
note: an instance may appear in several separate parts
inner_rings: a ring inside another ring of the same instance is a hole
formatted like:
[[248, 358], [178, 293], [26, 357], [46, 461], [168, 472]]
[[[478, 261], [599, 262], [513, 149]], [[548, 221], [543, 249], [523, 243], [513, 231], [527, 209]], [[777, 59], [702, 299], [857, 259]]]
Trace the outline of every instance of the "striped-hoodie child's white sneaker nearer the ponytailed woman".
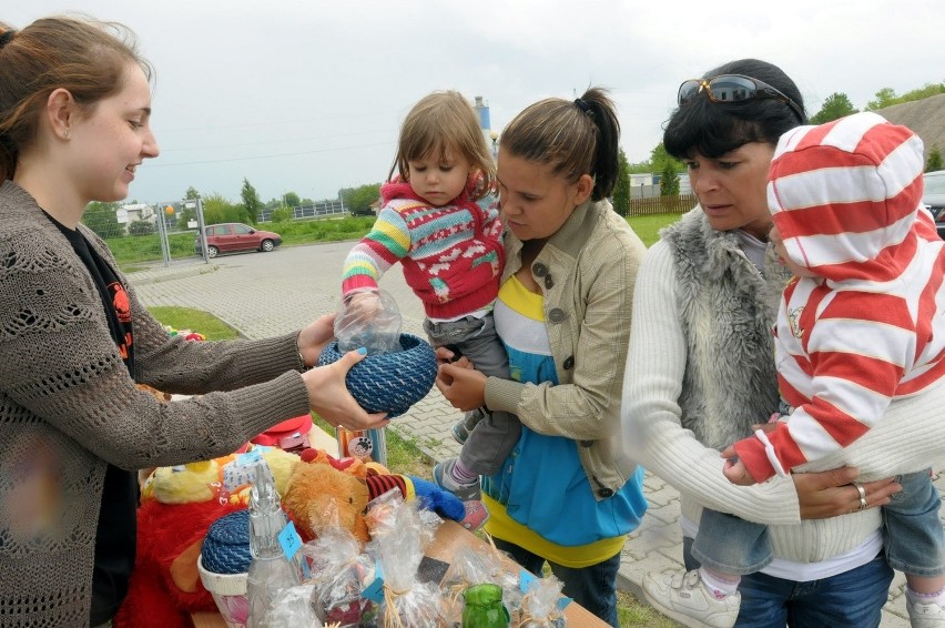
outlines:
[[699, 569], [685, 574], [647, 574], [643, 597], [653, 608], [689, 628], [731, 628], [739, 617], [742, 595], [715, 599]]

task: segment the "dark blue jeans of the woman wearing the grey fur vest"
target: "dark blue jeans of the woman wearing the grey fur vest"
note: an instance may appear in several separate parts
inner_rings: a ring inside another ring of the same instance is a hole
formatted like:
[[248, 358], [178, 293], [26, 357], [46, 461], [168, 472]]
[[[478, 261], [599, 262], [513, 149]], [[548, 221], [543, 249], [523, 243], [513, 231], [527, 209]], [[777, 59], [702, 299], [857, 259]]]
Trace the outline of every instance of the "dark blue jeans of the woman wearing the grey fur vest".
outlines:
[[[692, 539], [683, 538], [685, 568], [697, 569]], [[882, 555], [843, 574], [799, 583], [765, 574], [742, 577], [742, 606], [736, 628], [810, 628], [851, 626], [876, 628], [893, 581], [893, 569]]]

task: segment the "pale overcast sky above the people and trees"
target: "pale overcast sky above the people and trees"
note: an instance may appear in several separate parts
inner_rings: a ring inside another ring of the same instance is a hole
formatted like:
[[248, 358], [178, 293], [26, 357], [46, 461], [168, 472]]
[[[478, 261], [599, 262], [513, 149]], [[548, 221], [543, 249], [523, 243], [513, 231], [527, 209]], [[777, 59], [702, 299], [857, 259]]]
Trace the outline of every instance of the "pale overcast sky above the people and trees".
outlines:
[[16, 28], [81, 10], [134, 30], [158, 71], [161, 156], [131, 199], [335, 197], [389, 171], [424, 94], [481, 95], [501, 131], [528, 104], [610, 88], [631, 162], [660, 142], [679, 83], [732, 59], [780, 65], [810, 113], [834, 92], [945, 80], [943, 0], [6, 0]]

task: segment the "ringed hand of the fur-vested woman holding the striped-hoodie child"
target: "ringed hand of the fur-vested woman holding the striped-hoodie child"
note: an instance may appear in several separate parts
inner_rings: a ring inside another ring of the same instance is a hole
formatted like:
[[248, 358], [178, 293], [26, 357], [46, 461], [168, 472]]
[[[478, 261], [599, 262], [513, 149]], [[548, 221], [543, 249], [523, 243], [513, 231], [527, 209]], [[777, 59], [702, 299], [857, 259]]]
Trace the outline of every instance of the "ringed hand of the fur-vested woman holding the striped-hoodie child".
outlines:
[[[860, 510], [860, 490], [854, 485], [857, 475], [860, 472], [855, 467], [791, 474], [801, 503], [801, 518], [826, 519]], [[891, 495], [903, 489], [891, 477], [858, 485], [865, 490], [866, 508], [885, 506]]]

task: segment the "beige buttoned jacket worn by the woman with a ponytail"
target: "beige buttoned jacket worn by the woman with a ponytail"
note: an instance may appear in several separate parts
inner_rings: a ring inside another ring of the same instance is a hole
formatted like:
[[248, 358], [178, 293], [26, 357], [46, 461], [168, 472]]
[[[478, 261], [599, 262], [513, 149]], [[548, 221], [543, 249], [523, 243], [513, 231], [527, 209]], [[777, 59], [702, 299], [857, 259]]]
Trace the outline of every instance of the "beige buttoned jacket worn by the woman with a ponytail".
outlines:
[[[505, 282], [521, 269], [522, 243], [506, 234]], [[623, 486], [636, 465], [619, 446], [620, 388], [630, 340], [637, 269], [646, 246], [607, 201], [577, 207], [531, 265], [542, 286], [558, 385], [489, 377], [486, 405], [539, 434], [578, 440], [598, 499]]]

